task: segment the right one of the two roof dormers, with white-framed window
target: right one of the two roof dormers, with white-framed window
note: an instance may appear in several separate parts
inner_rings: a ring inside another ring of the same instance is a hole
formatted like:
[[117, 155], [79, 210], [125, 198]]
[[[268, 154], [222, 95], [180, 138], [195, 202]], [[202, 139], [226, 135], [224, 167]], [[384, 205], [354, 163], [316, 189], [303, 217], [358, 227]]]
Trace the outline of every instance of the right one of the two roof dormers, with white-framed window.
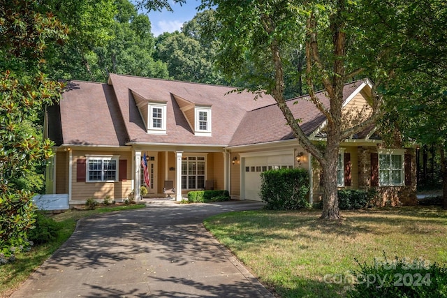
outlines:
[[191, 130], [194, 135], [202, 137], [211, 137], [211, 105], [192, 103], [190, 100], [186, 100], [180, 96], [173, 94], [175, 101], [180, 107], [180, 110], [184, 114], [186, 121], [188, 121]]

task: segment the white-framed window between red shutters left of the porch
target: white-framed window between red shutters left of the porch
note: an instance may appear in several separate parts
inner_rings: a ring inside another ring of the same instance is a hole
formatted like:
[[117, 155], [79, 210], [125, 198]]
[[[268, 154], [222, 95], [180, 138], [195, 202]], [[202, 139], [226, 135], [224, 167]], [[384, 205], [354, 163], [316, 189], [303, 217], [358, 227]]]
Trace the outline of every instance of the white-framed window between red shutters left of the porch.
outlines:
[[87, 182], [118, 181], [119, 156], [87, 156]]

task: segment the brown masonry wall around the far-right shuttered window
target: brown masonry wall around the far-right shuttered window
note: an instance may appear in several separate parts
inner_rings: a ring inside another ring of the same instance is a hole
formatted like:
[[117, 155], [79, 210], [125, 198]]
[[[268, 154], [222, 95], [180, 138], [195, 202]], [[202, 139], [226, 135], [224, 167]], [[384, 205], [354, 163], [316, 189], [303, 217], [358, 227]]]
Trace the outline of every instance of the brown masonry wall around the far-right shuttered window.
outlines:
[[[371, 154], [377, 152], [377, 147], [358, 147], [358, 187], [371, 188]], [[405, 154], [411, 154], [411, 186], [376, 186], [379, 199], [378, 206], [408, 206], [416, 205], [416, 155], [414, 149], [406, 149]]]

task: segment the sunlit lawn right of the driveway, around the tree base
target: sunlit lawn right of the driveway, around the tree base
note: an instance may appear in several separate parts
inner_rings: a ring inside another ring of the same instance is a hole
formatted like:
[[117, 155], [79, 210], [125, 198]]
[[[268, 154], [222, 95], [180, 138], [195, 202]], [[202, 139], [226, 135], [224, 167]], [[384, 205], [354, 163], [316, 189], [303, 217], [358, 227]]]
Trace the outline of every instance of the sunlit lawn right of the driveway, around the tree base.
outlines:
[[205, 227], [279, 297], [344, 297], [340, 277], [374, 258], [447, 262], [447, 211], [401, 207], [342, 211], [242, 211], [207, 218]]

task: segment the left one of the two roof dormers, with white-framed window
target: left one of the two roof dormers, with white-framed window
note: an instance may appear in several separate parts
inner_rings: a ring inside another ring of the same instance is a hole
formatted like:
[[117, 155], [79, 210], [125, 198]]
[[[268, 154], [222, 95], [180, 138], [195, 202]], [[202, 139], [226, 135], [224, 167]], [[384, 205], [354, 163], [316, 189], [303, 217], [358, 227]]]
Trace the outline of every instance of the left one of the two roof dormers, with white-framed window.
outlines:
[[166, 100], [150, 100], [132, 91], [135, 103], [149, 134], [166, 134]]

